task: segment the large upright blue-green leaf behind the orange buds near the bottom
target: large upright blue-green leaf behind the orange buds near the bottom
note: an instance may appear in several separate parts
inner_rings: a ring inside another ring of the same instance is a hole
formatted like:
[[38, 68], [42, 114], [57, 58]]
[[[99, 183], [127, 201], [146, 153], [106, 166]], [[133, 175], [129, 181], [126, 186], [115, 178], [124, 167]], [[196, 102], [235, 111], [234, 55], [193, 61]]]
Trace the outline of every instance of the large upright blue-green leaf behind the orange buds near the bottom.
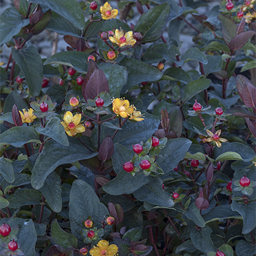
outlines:
[[109, 214], [107, 207], [100, 203], [99, 197], [95, 194], [92, 186], [83, 180], [75, 180], [72, 184], [69, 200], [69, 219], [72, 234], [79, 241], [83, 241], [81, 230], [84, 228], [82, 220], [92, 217], [97, 228], [102, 228], [100, 221]]

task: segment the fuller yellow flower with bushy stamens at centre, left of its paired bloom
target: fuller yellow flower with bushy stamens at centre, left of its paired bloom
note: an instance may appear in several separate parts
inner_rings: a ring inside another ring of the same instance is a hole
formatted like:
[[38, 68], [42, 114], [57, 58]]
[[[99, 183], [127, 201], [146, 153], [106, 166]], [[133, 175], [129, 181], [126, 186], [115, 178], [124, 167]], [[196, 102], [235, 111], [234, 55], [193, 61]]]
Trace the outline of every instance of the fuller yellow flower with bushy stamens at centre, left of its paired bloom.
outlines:
[[135, 107], [132, 105], [130, 106], [129, 100], [116, 98], [112, 100], [112, 104], [114, 113], [122, 118], [132, 116], [134, 113]]

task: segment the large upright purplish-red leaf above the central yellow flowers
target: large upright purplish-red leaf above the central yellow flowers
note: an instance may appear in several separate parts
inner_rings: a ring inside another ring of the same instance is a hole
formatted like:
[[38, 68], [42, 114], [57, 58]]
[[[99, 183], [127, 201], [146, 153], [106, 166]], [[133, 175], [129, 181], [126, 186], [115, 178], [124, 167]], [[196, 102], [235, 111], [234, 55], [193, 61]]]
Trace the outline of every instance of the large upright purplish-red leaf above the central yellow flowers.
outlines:
[[[87, 75], [88, 73], [86, 74], [86, 77]], [[84, 79], [84, 82], [86, 81], [86, 77]], [[109, 92], [108, 79], [105, 76], [104, 71], [102, 69], [95, 70], [90, 76], [88, 82], [86, 83], [86, 86], [84, 87], [85, 88], [83, 88], [82, 90], [85, 100], [94, 100], [100, 92]]]

